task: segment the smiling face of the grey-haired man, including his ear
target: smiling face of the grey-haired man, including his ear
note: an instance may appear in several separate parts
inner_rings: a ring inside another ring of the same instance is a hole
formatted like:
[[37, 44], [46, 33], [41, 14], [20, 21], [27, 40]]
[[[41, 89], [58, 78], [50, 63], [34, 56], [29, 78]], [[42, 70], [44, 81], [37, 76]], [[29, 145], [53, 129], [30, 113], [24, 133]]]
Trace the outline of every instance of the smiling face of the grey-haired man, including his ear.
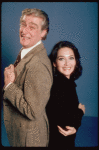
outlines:
[[33, 15], [25, 15], [20, 25], [19, 36], [23, 48], [29, 48], [39, 42], [46, 34], [41, 30], [42, 18]]

